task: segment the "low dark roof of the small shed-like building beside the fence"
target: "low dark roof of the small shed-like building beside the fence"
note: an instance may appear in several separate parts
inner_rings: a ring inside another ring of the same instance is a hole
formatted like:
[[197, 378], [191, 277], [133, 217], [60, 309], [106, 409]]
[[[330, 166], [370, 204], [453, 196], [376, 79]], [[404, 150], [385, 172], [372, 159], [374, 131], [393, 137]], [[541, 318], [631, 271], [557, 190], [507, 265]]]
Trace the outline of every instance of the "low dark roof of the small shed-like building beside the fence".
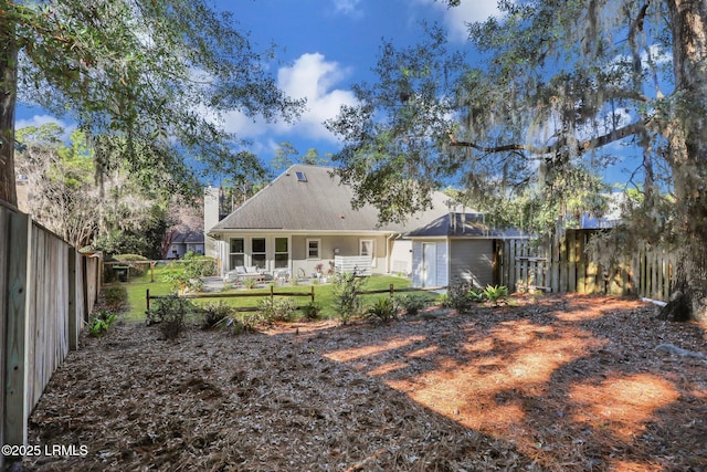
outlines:
[[446, 213], [434, 221], [409, 231], [405, 238], [518, 238], [523, 234], [516, 229], [495, 229], [488, 227], [481, 213]]

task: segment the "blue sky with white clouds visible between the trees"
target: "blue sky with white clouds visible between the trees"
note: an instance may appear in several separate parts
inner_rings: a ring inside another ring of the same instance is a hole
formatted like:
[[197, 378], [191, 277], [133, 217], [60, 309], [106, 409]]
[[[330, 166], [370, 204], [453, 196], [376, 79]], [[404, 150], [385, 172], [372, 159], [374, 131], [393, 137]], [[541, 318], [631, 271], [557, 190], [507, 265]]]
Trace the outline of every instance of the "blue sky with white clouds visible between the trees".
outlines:
[[[250, 31], [255, 50], [276, 44], [277, 57], [270, 67], [278, 86], [307, 99], [307, 111], [294, 125], [229, 115], [228, 130], [250, 139], [250, 150], [266, 164], [283, 141], [300, 155], [309, 148], [320, 154], [339, 150], [323, 122], [335, 117], [341, 105], [355, 103], [350, 86], [371, 78], [383, 38], [412, 45], [422, 32], [422, 21], [437, 22], [453, 43], [463, 46], [465, 22], [498, 13], [496, 0], [463, 1], [453, 9], [434, 0], [214, 0], [214, 4], [233, 12], [240, 29]], [[48, 120], [56, 119], [36, 108], [18, 108], [18, 128]], [[72, 128], [71, 123], [59, 122]]]

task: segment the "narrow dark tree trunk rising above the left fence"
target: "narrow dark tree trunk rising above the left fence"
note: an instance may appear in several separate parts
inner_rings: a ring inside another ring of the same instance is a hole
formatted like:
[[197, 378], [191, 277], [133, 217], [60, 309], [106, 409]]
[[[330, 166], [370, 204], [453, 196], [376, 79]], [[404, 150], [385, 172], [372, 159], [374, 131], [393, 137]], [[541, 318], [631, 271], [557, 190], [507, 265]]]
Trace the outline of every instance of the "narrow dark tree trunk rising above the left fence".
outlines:
[[14, 107], [18, 91], [18, 48], [13, 24], [7, 21], [3, 23], [0, 23], [0, 200], [17, 206]]

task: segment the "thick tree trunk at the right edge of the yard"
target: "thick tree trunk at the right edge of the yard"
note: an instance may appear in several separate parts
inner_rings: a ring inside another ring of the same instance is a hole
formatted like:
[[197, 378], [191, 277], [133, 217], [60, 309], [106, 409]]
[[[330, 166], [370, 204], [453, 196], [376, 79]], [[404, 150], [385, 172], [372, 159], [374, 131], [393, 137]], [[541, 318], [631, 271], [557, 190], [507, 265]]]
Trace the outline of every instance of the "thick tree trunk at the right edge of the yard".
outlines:
[[662, 316], [707, 322], [707, 3], [667, 2], [675, 98], [671, 167], [675, 183], [678, 265]]

